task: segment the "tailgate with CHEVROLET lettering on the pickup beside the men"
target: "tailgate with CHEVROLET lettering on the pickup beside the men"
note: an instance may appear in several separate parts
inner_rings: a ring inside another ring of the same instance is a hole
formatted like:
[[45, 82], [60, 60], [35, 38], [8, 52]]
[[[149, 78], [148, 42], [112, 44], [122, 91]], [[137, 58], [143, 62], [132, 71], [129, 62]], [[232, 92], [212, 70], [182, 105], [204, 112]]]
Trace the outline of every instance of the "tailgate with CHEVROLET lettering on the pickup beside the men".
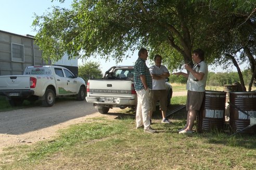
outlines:
[[132, 80], [89, 80], [90, 97], [132, 98]]

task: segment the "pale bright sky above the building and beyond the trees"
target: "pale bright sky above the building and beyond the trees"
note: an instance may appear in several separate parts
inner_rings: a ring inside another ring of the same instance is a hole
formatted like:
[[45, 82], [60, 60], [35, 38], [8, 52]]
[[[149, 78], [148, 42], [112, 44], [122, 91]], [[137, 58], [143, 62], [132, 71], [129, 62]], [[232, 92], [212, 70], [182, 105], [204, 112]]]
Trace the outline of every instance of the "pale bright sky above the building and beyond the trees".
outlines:
[[[66, 0], [63, 4], [59, 3], [58, 1], [51, 2], [51, 0], [0, 0], [0, 4], [0, 30], [19, 35], [35, 35], [36, 32], [33, 32], [31, 27], [34, 20], [34, 13], [41, 16], [45, 11], [52, 11], [48, 8], [52, 7], [53, 5], [70, 8], [72, 0]], [[131, 58], [124, 59], [120, 63], [116, 63], [114, 61], [105, 61], [99, 57], [89, 60], [100, 63], [101, 71], [105, 73], [106, 70], [113, 65], [133, 65], [138, 58], [137, 53], [138, 51], [135, 51], [132, 55], [130, 52], [129, 55]], [[81, 64], [83, 64], [83, 62], [79, 60], [79, 65]], [[149, 61], [147, 62], [148, 66], [151, 64], [152, 63]], [[212, 72], [223, 72], [221, 68], [215, 70], [212, 68], [213, 67], [211, 66], [209, 67], [209, 70]], [[233, 70], [236, 71], [235, 68], [233, 68]]]

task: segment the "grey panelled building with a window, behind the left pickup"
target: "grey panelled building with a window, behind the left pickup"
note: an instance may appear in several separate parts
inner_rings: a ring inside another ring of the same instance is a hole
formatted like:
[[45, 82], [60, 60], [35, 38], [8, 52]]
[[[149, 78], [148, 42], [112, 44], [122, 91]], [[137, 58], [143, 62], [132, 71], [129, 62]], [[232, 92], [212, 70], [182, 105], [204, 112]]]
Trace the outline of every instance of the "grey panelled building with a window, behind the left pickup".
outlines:
[[[42, 51], [34, 44], [33, 36], [18, 35], [0, 30], [0, 76], [22, 75], [27, 66], [50, 65], [42, 59]], [[78, 59], [68, 60], [65, 54], [53, 63], [78, 74]]]

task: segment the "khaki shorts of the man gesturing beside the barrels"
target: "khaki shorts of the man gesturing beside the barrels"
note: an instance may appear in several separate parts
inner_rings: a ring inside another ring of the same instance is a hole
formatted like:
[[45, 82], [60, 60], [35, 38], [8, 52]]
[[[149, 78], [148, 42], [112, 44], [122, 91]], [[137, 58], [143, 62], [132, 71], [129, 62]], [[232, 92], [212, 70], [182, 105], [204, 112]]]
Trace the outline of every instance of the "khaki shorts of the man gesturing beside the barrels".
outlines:
[[203, 101], [204, 92], [187, 91], [187, 105], [188, 110], [200, 110]]

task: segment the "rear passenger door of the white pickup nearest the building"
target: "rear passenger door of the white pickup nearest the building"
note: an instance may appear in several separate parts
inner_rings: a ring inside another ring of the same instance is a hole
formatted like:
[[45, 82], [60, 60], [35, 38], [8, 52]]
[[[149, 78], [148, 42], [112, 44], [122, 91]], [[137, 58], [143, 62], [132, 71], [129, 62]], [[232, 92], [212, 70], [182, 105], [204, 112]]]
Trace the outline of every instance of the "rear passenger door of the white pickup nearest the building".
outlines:
[[56, 76], [57, 94], [68, 94], [67, 79], [62, 68], [54, 68]]

